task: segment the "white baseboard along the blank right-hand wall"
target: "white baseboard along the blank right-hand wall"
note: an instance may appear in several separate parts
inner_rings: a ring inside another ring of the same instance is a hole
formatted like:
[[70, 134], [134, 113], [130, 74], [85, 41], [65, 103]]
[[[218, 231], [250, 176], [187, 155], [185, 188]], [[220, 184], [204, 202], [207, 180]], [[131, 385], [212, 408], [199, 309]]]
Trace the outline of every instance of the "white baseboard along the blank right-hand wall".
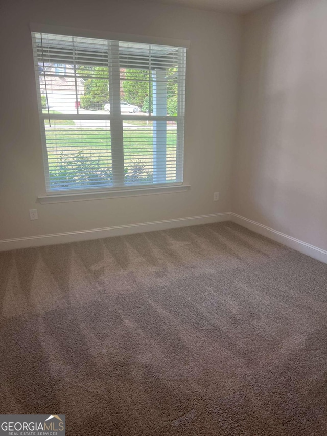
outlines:
[[237, 215], [233, 212], [230, 213], [231, 221], [242, 225], [243, 227], [252, 230], [253, 232], [259, 233], [260, 235], [267, 236], [274, 241], [280, 242], [294, 250], [300, 251], [307, 256], [314, 259], [320, 260], [321, 262], [327, 263], [327, 251], [322, 248], [315, 247], [314, 245], [303, 242], [299, 239], [293, 238], [292, 236], [285, 235], [282, 232], [278, 232], [273, 228], [267, 227], [266, 225], [259, 224], [259, 222], [252, 221], [248, 218], [244, 218], [241, 215]]

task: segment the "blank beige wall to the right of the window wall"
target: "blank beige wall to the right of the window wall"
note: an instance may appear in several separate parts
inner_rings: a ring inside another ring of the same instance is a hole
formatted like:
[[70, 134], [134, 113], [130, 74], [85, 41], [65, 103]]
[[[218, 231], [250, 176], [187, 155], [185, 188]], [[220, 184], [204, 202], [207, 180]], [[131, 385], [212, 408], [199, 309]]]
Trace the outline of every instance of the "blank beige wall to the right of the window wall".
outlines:
[[327, 249], [327, 2], [245, 18], [232, 211]]

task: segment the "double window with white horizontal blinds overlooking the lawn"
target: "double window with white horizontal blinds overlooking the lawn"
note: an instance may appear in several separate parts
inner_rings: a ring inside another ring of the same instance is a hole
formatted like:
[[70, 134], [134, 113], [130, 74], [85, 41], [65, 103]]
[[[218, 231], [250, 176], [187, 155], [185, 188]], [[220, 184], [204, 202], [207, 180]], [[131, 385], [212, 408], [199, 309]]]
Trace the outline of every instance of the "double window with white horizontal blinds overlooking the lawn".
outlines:
[[185, 48], [32, 38], [48, 194], [181, 185]]

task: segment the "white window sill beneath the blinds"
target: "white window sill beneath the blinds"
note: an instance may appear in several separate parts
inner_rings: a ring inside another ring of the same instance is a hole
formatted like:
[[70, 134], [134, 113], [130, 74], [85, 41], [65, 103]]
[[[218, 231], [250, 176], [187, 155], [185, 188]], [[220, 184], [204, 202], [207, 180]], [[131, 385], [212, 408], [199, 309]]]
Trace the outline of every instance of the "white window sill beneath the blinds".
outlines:
[[170, 194], [175, 192], [185, 192], [190, 190], [190, 185], [174, 185], [174, 186], [160, 186], [150, 188], [131, 188], [120, 189], [115, 191], [98, 191], [98, 192], [74, 192], [74, 193], [60, 193], [40, 195], [37, 197], [41, 204], [51, 203], [70, 203], [73, 201], [86, 201], [86, 200], [104, 200], [107, 198], [121, 198], [121, 197], [138, 197], [142, 195], [154, 194]]

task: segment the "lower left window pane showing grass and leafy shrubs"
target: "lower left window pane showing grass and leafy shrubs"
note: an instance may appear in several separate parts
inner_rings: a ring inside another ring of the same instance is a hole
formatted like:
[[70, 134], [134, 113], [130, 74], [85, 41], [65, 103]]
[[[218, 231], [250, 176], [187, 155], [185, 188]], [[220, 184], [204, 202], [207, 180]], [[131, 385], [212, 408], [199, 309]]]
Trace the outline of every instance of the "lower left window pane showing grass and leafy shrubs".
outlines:
[[110, 122], [45, 120], [51, 189], [112, 186]]

